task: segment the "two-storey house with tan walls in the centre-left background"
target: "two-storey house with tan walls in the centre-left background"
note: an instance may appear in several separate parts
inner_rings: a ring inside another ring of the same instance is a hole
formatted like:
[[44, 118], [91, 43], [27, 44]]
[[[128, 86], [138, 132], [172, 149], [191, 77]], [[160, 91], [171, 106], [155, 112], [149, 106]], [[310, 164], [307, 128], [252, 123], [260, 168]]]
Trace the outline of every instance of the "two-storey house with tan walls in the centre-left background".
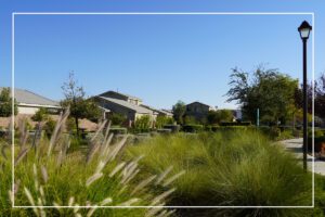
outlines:
[[155, 111], [142, 106], [142, 100], [140, 98], [129, 94], [107, 91], [93, 97], [93, 99], [100, 108], [103, 110], [105, 116], [109, 115], [109, 113], [125, 115], [129, 122], [129, 126], [143, 115], [148, 115], [152, 122], [154, 122], [158, 115]]

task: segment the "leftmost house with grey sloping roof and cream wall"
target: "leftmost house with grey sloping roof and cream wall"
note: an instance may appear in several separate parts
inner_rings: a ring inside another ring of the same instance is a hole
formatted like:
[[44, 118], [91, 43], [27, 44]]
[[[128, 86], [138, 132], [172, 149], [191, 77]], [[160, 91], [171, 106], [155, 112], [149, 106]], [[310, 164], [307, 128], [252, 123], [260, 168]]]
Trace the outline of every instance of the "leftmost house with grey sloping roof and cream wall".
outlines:
[[[3, 89], [3, 87], [0, 87], [0, 92], [2, 92]], [[29, 90], [15, 88], [14, 98], [17, 102], [18, 114], [34, 115], [41, 107], [55, 113], [61, 108], [58, 102]]]

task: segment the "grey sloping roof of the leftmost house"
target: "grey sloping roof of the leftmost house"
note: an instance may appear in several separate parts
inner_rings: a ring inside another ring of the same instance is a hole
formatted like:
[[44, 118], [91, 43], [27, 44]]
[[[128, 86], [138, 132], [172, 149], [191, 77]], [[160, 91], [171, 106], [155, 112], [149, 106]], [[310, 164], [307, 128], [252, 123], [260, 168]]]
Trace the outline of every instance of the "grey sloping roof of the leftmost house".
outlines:
[[[3, 87], [0, 87], [0, 92], [3, 89]], [[20, 104], [23, 103], [32, 105], [60, 106], [58, 102], [56, 101], [50, 100], [29, 90], [23, 90], [18, 88], [14, 89], [14, 98]]]

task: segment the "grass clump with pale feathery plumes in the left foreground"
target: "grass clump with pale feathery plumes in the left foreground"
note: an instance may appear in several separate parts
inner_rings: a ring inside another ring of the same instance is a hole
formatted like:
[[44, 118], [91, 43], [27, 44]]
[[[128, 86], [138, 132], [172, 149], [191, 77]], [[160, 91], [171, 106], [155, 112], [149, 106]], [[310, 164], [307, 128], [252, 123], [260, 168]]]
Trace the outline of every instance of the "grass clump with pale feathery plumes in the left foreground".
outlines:
[[[142, 155], [122, 161], [120, 155], [127, 137], [113, 144], [109, 123], [102, 123], [86, 154], [69, 151], [70, 137], [63, 131], [67, 117], [68, 111], [60, 116], [50, 140], [47, 137], [30, 139], [27, 129], [20, 127], [14, 165], [11, 165], [10, 143], [1, 142], [0, 216], [151, 217], [173, 214], [174, 210], [165, 208], [100, 207], [164, 206], [176, 189], [157, 183], [158, 175], [139, 177]], [[13, 204], [39, 207], [12, 208]]]

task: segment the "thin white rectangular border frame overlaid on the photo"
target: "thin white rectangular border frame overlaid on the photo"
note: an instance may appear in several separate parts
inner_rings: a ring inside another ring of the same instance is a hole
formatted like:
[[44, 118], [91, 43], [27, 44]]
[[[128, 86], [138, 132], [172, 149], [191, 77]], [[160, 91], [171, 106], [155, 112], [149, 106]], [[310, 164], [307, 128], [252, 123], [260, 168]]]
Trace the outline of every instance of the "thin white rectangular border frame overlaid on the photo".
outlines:
[[[312, 16], [312, 137], [314, 138], [314, 12], [13, 12], [12, 13], [12, 95], [14, 95], [14, 72], [15, 72], [15, 15], [311, 15]], [[292, 29], [295, 30], [295, 29]], [[298, 33], [297, 33], [298, 37]], [[12, 98], [14, 99], [14, 98]], [[14, 100], [12, 100], [12, 114], [14, 114]], [[14, 123], [14, 115], [12, 115]], [[14, 192], [14, 125], [12, 125], [12, 192]], [[312, 140], [314, 156], [314, 139]], [[15, 206], [13, 195], [13, 208], [314, 208], [314, 171], [315, 161], [312, 161], [312, 205], [311, 206]]]

